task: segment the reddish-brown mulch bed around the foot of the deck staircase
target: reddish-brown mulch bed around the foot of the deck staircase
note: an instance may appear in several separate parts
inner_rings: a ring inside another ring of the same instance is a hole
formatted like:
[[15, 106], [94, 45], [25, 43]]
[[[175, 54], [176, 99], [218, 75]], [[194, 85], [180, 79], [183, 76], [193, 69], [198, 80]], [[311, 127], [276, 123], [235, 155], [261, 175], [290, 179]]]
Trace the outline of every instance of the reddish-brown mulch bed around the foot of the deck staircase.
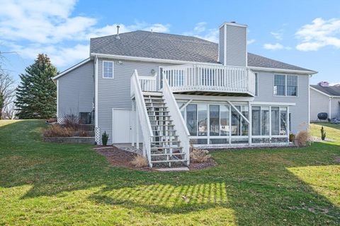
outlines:
[[[152, 169], [150, 167], [135, 167], [132, 165], [131, 162], [137, 156], [136, 153], [130, 153], [115, 146], [103, 147], [103, 145], [98, 145], [96, 148], [94, 148], [94, 150], [96, 150], [97, 153], [105, 156], [108, 159], [108, 162], [110, 162], [114, 167], [125, 167], [128, 169], [137, 169], [143, 171], [156, 171], [156, 169]], [[217, 163], [210, 159], [208, 162], [191, 163], [188, 168], [190, 170], [208, 169], [210, 167], [214, 167], [215, 165], [217, 165]]]

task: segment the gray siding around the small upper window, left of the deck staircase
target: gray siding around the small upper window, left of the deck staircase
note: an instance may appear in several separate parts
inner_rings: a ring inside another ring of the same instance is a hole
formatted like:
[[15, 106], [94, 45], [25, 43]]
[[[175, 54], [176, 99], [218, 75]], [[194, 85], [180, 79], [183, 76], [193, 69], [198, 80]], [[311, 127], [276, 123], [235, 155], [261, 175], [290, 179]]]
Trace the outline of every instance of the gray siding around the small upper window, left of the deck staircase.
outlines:
[[[103, 78], [103, 61], [113, 61], [113, 78]], [[98, 127], [109, 135], [108, 143], [112, 143], [112, 109], [132, 109], [130, 98], [130, 78], [135, 69], [139, 76], [151, 76], [154, 69], [158, 73], [159, 66], [141, 61], [121, 61], [113, 59], [98, 59]]]

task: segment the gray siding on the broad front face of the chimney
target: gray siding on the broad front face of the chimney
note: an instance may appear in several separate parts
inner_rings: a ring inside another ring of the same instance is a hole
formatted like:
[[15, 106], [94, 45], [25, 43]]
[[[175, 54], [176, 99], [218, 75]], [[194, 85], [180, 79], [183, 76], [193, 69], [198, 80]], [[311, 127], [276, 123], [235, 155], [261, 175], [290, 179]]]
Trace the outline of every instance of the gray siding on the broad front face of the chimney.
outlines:
[[246, 66], [246, 28], [227, 25], [227, 65]]

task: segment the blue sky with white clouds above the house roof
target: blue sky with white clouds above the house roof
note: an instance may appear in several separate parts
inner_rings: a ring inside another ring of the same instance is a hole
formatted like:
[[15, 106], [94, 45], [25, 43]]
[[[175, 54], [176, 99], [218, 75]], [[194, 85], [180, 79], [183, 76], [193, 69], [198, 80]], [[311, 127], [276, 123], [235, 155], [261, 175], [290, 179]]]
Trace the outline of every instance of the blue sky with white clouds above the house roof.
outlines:
[[16, 80], [36, 55], [59, 71], [89, 57], [89, 37], [153, 30], [217, 40], [222, 22], [248, 25], [248, 50], [340, 82], [340, 1], [0, 0], [0, 51]]

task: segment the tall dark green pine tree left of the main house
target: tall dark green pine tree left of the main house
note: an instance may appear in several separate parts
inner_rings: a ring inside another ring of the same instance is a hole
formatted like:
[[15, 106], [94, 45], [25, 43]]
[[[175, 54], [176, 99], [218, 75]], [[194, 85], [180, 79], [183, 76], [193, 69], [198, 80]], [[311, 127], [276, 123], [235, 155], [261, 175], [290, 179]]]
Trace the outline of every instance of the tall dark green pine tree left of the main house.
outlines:
[[16, 89], [16, 114], [19, 119], [47, 119], [57, 112], [57, 87], [52, 77], [57, 69], [46, 54], [38, 54], [34, 64], [20, 75]]

